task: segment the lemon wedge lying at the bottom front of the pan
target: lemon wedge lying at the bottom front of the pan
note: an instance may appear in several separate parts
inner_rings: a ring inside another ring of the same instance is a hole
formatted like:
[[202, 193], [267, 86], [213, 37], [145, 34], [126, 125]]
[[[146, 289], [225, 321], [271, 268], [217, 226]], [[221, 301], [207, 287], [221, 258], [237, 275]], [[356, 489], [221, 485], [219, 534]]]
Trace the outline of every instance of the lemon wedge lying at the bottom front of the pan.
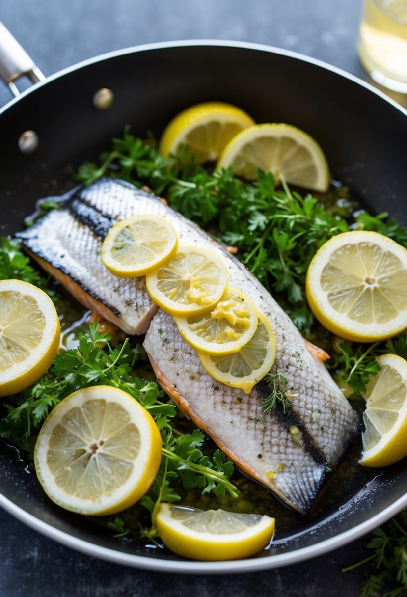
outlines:
[[248, 558], [269, 545], [275, 519], [257, 514], [161, 504], [156, 525], [165, 545], [184, 558]]

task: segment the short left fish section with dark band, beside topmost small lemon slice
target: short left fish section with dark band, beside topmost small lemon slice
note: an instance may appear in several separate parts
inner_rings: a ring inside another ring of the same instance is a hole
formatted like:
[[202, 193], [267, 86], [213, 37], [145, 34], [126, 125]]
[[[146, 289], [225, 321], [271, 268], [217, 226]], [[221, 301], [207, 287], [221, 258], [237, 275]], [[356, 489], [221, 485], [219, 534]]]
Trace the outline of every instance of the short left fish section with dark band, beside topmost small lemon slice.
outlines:
[[73, 195], [16, 236], [79, 303], [127, 334], [145, 334], [158, 310], [146, 279], [118, 278], [101, 263], [101, 243], [113, 223]]

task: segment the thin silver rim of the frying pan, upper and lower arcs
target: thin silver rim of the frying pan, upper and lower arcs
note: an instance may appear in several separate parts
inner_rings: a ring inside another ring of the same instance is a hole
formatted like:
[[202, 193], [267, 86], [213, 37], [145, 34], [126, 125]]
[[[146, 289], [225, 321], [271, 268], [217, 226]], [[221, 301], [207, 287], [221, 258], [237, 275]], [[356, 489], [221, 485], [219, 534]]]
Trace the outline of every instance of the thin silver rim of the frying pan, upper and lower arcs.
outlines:
[[[23, 91], [23, 93], [21, 93], [20, 96], [12, 99], [7, 104], [5, 104], [5, 106], [0, 108], [0, 116], [7, 112], [7, 110], [14, 106], [14, 104], [16, 104], [18, 101], [23, 100], [25, 97], [34, 93], [39, 88], [44, 87], [44, 85], [50, 84], [51, 82], [61, 78], [64, 75], [75, 72], [76, 70], [83, 69], [87, 66], [91, 66], [92, 64], [104, 60], [115, 59], [116, 57], [126, 56], [128, 54], [150, 50], [164, 50], [166, 48], [177, 47], [229, 47], [247, 50], [257, 50], [272, 54], [279, 54], [280, 56], [286, 56], [295, 60], [310, 63], [314, 66], [321, 67], [324, 70], [329, 70], [330, 72], [340, 75], [341, 77], [348, 79], [349, 81], [352, 81], [354, 84], [360, 85], [361, 87], [365, 88], [371, 93], [374, 93], [375, 96], [378, 96], [380, 97], [380, 99], [385, 100], [386, 103], [390, 104], [391, 106], [396, 108], [400, 113], [402, 113], [402, 115], [407, 117], [407, 110], [400, 106], [400, 104], [398, 104], [396, 101], [386, 96], [386, 94], [383, 91], [378, 90], [377, 88], [373, 87], [373, 85], [363, 81], [357, 76], [352, 75], [351, 73], [347, 73], [345, 70], [328, 64], [322, 60], [314, 59], [312, 57], [308, 57], [304, 54], [297, 53], [291, 50], [283, 50], [282, 48], [276, 48], [264, 44], [254, 44], [251, 42], [227, 41], [217, 39], [189, 39], [136, 45], [134, 47], [125, 48], [122, 50], [115, 50], [109, 53], [101, 54], [100, 56], [91, 59], [81, 61], [77, 64], [74, 64], [73, 66], [69, 66], [65, 69], [59, 70], [58, 72], [45, 79], [45, 81], [39, 82], [27, 89], [26, 91]], [[317, 557], [319, 555], [323, 555], [324, 553], [328, 553], [331, 550], [338, 549], [338, 547], [344, 546], [350, 541], [356, 540], [357, 538], [362, 537], [374, 528], [380, 526], [389, 518], [391, 518], [391, 516], [394, 516], [397, 512], [406, 507], [407, 493], [404, 496], [399, 497], [393, 504], [390, 504], [390, 506], [387, 506], [384, 510], [382, 510], [380, 513], [373, 516], [372, 518], [369, 518], [367, 521], [364, 521], [359, 525], [356, 525], [356, 527], [353, 527], [348, 531], [344, 531], [344, 533], [335, 535], [334, 537], [331, 537], [323, 541], [319, 541], [319, 543], [307, 547], [301, 547], [300, 549], [291, 550], [289, 552], [280, 553], [277, 555], [227, 562], [190, 562], [181, 560], [177, 561], [150, 558], [148, 555], [139, 556], [131, 553], [120, 552], [118, 550], [103, 547], [95, 543], [91, 543], [90, 541], [74, 537], [73, 535], [66, 533], [65, 531], [61, 531], [53, 527], [53, 525], [48, 524], [47, 522], [44, 522], [39, 518], [36, 518], [36, 516], [30, 514], [20, 506], [17, 506], [2, 494], [0, 494], [0, 506], [4, 507], [4, 509], [8, 513], [15, 516], [18, 520], [20, 520], [30, 528], [33, 528], [33, 530], [38, 531], [46, 537], [51, 538], [57, 541], [58, 543], [63, 544], [66, 547], [70, 547], [71, 549], [76, 549], [79, 552], [95, 556], [100, 559], [104, 559], [116, 564], [143, 568], [144, 570], [161, 571], [164, 573], [239, 574], [261, 570], [269, 570], [280, 566], [295, 564], [297, 562], [301, 562], [307, 559]]]

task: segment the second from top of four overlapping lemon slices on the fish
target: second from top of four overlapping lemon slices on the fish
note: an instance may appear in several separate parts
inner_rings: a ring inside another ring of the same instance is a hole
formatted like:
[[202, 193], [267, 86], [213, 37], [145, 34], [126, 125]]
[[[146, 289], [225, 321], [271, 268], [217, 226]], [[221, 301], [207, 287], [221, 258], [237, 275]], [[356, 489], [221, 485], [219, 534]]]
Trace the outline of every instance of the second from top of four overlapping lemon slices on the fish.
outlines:
[[211, 251], [180, 247], [178, 253], [146, 277], [152, 300], [170, 315], [203, 313], [214, 307], [227, 286], [224, 262]]

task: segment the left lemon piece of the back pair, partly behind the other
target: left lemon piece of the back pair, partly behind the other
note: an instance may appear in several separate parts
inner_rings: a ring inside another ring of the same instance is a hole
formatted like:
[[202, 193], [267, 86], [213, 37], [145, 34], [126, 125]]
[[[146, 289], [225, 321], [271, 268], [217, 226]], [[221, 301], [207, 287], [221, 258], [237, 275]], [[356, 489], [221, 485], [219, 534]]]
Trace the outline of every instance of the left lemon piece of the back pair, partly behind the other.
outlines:
[[178, 155], [189, 146], [198, 164], [215, 160], [224, 146], [254, 120], [232, 104], [208, 101], [183, 110], [165, 128], [159, 152], [165, 157]]

